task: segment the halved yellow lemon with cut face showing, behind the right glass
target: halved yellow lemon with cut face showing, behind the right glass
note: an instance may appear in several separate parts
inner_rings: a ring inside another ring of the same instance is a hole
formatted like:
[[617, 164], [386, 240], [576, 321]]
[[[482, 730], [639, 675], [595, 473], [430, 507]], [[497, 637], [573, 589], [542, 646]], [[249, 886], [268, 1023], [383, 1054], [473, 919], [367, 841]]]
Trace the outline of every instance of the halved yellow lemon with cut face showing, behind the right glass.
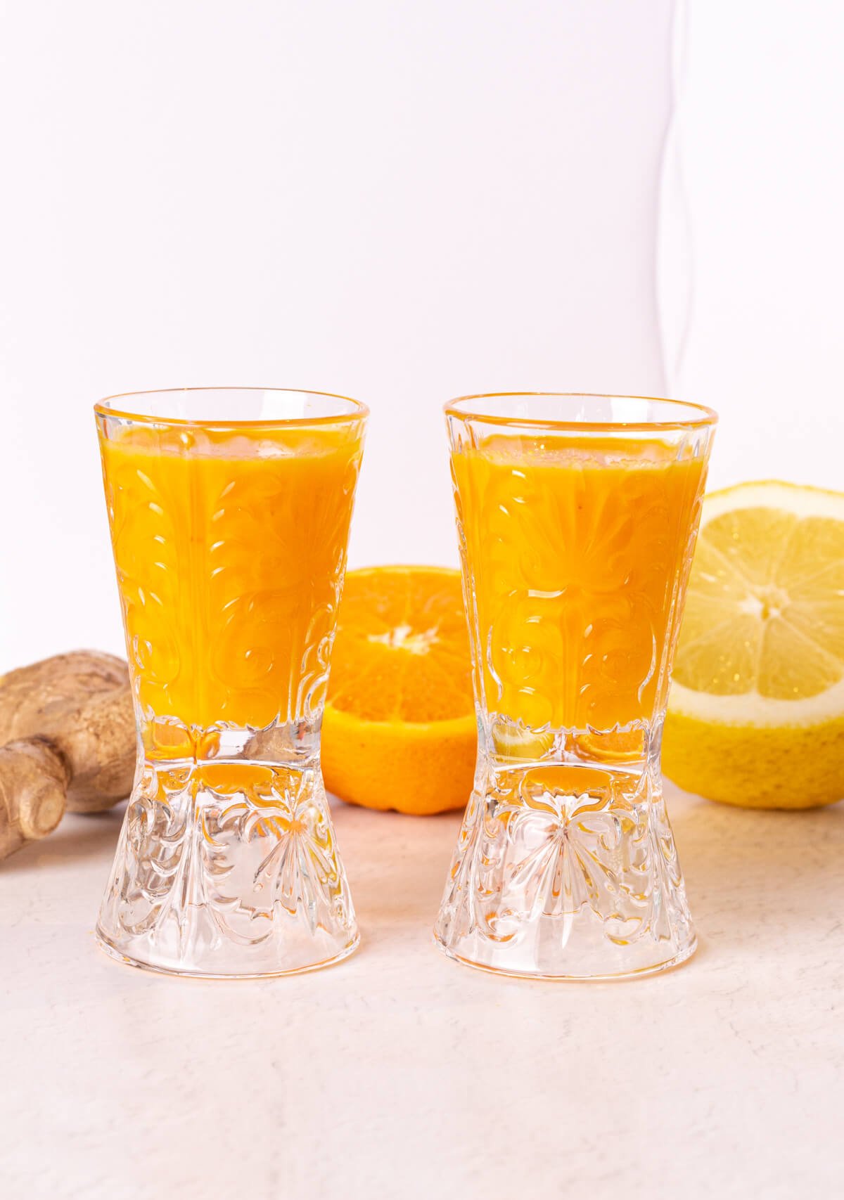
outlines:
[[729, 804], [844, 796], [844, 496], [765, 481], [705, 498], [663, 763]]

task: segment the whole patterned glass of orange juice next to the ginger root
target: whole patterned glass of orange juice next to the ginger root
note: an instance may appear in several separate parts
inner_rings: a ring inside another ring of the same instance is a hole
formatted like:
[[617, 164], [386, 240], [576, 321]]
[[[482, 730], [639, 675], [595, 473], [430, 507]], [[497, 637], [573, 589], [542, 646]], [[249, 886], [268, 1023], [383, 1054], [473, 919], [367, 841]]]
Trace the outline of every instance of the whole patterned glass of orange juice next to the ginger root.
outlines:
[[95, 413], [138, 728], [97, 936], [179, 974], [336, 962], [319, 727], [367, 410], [214, 388]]

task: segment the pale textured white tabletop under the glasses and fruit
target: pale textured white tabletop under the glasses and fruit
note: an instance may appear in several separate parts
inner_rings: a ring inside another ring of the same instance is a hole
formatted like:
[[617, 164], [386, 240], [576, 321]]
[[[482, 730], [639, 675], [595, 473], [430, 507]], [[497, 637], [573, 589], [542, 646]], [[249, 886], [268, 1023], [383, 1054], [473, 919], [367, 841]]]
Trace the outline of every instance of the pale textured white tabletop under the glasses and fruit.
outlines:
[[612, 984], [431, 943], [456, 816], [337, 804], [363, 930], [328, 971], [134, 971], [92, 923], [121, 808], [0, 866], [4, 1200], [844, 1194], [844, 805], [670, 793], [701, 946]]

